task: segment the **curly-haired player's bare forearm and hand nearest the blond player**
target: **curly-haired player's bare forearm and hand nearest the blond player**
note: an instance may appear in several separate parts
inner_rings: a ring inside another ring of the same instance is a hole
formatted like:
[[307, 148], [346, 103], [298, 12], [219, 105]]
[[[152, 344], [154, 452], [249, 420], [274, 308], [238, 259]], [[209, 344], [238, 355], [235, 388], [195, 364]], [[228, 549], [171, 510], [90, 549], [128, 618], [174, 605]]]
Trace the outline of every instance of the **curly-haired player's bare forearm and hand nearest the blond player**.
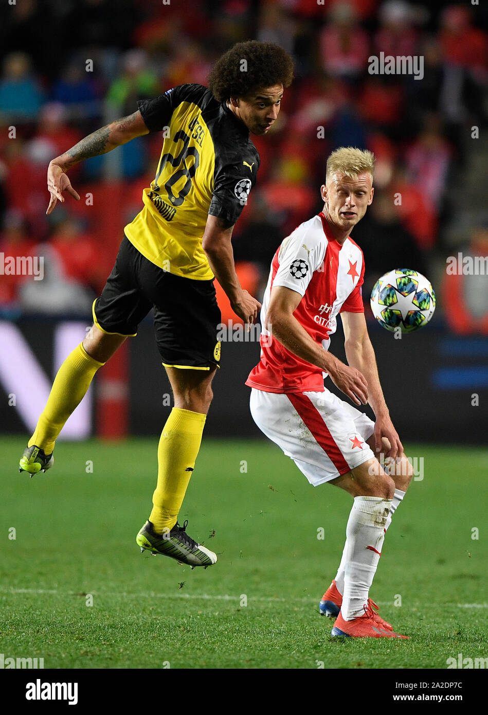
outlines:
[[209, 214], [202, 247], [216, 280], [219, 281], [229, 298], [232, 310], [239, 315], [241, 320], [244, 320], [249, 330], [250, 323], [257, 319], [261, 303], [253, 298], [247, 290], [243, 290], [239, 283], [231, 244], [233, 228], [234, 225], [229, 221]]

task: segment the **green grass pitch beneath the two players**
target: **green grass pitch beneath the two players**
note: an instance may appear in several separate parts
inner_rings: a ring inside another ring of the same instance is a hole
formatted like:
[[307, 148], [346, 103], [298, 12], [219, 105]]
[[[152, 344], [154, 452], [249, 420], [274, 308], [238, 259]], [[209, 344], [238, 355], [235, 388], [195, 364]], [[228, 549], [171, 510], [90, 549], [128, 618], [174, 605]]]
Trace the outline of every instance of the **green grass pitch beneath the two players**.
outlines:
[[215, 566], [141, 554], [156, 443], [59, 443], [54, 468], [30, 479], [17, 471], [24, 440], [0, 439], [5, 657], [46, 669], [445, 669], [459, 653], [488, 656], [486, 451], [407, 445], [424, 479], [394, 516], [371, 592], [411, 636], [393, 641], [330, 637], [318, 604], [351, 499], [310, 486], [271, 443], [204, 439], [180, 521]]

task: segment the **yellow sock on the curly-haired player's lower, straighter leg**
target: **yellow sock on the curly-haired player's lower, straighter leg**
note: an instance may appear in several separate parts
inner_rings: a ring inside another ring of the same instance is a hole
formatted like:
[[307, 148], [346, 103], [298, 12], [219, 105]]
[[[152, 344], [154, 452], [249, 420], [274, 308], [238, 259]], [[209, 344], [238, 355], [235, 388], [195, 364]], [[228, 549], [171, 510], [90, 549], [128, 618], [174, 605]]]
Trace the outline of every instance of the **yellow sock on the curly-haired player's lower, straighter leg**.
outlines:
[[158, 445], [158, 483], [149, 521], [162, 534], [176, 524], [186, 488], [199, 453], [206, 415], [174, 407]]

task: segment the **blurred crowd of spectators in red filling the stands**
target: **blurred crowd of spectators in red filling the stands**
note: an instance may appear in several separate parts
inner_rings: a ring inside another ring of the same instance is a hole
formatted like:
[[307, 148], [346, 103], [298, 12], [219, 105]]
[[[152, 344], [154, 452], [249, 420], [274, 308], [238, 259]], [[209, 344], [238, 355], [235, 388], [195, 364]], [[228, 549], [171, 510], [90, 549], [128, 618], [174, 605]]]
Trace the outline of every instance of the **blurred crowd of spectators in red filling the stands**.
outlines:
[[[71, 183], [82, 197], [91, 192], [93, 205], [68, 197], [48, 217], [50, 159], [134, 112], [137, 99], [184, 82], [206, 84], [215, 59], [250, 38], [287, 49], [296, 77], [273, 129], [252, 137], [261, 168], [233, 238], [246, 287], [261, 290], [282, 239], [322, 209], [327, 156], [350, 145], [377, 157], [374, 202], [352, 235], [364, 251], [364, 295], [393, 267], [435, 273], [453, 250], [444, 234], [458, 209], [452, 187], [469, 169], [472, 127], [481, 132], [488, 123], [483, 12], [469, 3], [429, 9], [404, 0], [2, 4], [0, 252], [44, 255], [46, 269], [35, 290], [26, 277], [2, 275], [1, 312], [89, 310], [116, 255], [107, 226], [120, 240], [141, 208], [161, 136], [78, 164]], [[370, 74], [369, 56], [382, 52], [422, 56], [422, 79]], [[123, 200], [95, 209], [114, 182]], [[459, 245], [479, 245], [485, 224], [459, 236]]]

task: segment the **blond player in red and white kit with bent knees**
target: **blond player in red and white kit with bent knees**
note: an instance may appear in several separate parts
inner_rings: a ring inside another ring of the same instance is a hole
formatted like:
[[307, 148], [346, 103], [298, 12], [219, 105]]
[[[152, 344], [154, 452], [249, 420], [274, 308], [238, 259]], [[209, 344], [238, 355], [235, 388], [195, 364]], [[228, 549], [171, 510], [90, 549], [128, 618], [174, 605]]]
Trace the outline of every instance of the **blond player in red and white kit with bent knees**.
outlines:
[[[354, 498], [337, 576], [320, 602], [333, 636], [399, 637], [369, 598], [384, 535], [412, 479], [389, 417], [369, 340], [362, 250], [349, 233], [373, 200], [372, 152], [342, 147], [327, 160], [324, 208], [287, 237], [272, 261], [261, 312], [261, 359], [247, 379], [259, 429], [309, 482]], [[346, 365], [329, 352], [340, 313]], [[327, 376], [355, 405], [330, 393]], [[383, 469], [374, 451], [387, 455]]]

